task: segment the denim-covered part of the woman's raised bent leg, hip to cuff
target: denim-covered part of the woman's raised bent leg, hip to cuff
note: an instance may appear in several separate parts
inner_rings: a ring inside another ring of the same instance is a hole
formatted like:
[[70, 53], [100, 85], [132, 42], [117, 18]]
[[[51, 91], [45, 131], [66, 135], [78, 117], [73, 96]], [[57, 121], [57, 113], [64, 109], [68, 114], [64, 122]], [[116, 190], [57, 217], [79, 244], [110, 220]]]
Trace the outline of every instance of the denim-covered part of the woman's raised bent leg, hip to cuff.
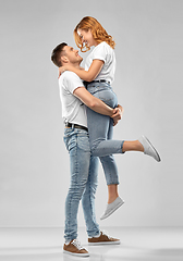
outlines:
[[[109, 107], [115, 108], [118, 105], [117, 96], [108, 84], [91, 84], [87, 89]], [[111, 117], [101, 115], [87, 108], [87, 124], [93, 156], [105, 157], [122, 153], [124, 141], [112, 140], [113, 120]]]

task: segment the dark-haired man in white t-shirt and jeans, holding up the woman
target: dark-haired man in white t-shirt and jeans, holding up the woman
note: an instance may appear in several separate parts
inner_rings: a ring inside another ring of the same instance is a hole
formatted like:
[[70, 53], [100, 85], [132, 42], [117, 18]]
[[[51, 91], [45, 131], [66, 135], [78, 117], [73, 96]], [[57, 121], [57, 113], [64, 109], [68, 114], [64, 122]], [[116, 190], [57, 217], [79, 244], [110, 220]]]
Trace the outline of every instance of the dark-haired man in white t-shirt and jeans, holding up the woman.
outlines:
[[[77, 50], [62, 42], [53, 49], [51, 60], [58, 67], [66, 63], [81, 69], [80, 64], [83, 58], [78, 55]], [[90, 154], [84, 104], [98, 113], [111, 116], [114, 124], [121, 119], [121, 110], [119, 108], [112, 109], [91, 96], [84, 87], [81, 78], [73, 72], [64, 72], [59, 78], [59, 86], [62, 116], [65, 123], [64, 142], [70, 153], [71, 166], [71, 185], [65, 200], [65, 244], [63, 251], [88, 257], [88, 251], [77, 240], [77, 211], [81, 199], [88, 244], [120, 244], [120, 240], [101, 232], [96, 222], [95, 194], [98, 159]]]

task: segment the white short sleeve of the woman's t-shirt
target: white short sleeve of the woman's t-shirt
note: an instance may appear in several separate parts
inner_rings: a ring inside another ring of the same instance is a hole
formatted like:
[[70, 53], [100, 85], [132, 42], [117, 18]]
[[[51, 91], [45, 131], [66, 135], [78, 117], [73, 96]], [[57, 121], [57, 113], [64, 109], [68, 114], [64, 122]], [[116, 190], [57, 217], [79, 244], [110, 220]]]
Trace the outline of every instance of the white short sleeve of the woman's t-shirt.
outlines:
[[108, 47], [108, 44], [106, 44], [106, 42], [98, 45], [94, 52], [93, 60], [101, 60], [105, 63], [107, 63], [108, 58], [110, 55], [109, 48], [110, 47]]

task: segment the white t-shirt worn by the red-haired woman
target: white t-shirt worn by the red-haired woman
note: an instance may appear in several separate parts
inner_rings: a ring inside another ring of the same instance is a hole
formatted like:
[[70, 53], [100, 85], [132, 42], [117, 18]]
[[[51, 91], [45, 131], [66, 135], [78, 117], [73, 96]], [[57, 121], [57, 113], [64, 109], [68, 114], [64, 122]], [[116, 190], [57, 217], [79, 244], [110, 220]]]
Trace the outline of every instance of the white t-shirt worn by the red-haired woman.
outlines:
[[106, 79], [110, 83], [114, 79], [115, 72], [115, 53], [113, 49], [106, 42], [102, 41], [94, 48], [94, 50], [86, 58], [85, 70], [88, 71], [93, 60], [101, 60], [105, 62], [100, 73], [95, 80]]

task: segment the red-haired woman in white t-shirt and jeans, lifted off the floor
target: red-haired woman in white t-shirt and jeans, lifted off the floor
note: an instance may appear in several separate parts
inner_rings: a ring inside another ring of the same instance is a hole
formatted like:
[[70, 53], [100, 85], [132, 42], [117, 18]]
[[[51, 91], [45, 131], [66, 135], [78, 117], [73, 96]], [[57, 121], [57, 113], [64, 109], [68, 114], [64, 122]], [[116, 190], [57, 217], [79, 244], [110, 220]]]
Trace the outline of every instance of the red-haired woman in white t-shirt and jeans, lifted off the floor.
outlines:
[[[76, 73], [83, 80], [87, 90], [95, 97], [106, 102], [111, 108], [118, 107], [117, 96], [111, 83], [115, 71], [115, 42], [100, 23], [90, 16], [84, 17], [74, 29], [74, 38], [81, 51], [93, 51], [86, 59], [85, 71], [64, 65], [59, 69]], [[113, 121], [111, 117], [98, 114], [87, 108], [87, 124], [89, 132], [90, 149], [94, 156], [99, 157], [108, 185], [108, 204], [101, 220], [112, 214], [123, 200], [118, 195], [119, 176], [113, 153], [125, 151], [142, 151], [160, 161], [160, 157], [149, 140], [142, 136], [138, 140], [112, 140]]]

